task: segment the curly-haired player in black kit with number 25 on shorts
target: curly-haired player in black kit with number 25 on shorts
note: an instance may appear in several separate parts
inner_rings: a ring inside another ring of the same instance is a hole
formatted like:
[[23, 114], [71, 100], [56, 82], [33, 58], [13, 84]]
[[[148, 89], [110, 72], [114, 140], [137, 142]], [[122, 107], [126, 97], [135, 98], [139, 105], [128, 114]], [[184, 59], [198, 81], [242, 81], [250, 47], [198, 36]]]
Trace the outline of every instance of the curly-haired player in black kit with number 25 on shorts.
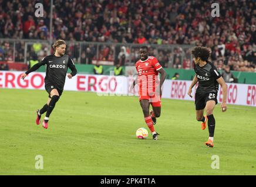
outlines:
[[[222, 112], [227, 110], [227, 85], [217, 68], [208, 61], [211, 50], [207, 47], [194, 47], [191, 51], [194, 60], [194, 71], [196, 75], [188, 89], [188, 95], [192, 98], [191, 92], [194, 85], [198, 82], [196, 90], [196, 118], [201, 123], [201, 129], [206, 129], [208, 121], [209, 138], [206, 146], [213, 147], [213, 137], [215, 130], [215, 118], [213, 110], [217, 105], [218, 85], [223, 89], [223, 103], [221, 103]], [[206, 116], [204, 116], [204, 109]]]

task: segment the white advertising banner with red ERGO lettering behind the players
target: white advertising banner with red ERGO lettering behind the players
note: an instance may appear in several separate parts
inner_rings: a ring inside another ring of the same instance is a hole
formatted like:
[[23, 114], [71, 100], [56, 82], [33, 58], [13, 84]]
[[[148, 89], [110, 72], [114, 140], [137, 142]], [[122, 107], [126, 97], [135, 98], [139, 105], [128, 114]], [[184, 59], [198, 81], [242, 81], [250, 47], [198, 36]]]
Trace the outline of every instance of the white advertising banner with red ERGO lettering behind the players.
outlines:
[[[0, 88], [14, 89], [45, 89], [45, 72], [32, 72], [24, 80], [21, 79], [23, 72], [0, 71]], [[133, 93], [129, 92], [133, 84], [133, 77], [110, 76], [110, 75], [86, 75], [77, 74], [72, 79], [66, 77], [64, 90], [97, 92], [98, 95], [137, 95], [137, 86]], [[166, 80], [162, 88], [162, 98], [194, 101], [194, 93], [197, 85], [193, 88], [193, 98], [187, 95], [191, 81]], [[221, 103], [222, 89], [218, 91], [218, 102]], [[227, 103], [232, 105], [256, 106], [256, 85], [229, 84], [227, 83]]]

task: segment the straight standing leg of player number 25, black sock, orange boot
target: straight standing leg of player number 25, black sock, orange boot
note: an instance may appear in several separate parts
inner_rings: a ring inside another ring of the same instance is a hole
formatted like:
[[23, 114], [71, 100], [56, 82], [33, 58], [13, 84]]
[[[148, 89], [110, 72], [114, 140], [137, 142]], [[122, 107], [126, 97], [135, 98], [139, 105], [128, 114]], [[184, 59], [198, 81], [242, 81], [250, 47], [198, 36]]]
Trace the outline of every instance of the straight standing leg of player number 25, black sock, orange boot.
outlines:
[[207, 101], [206, 103], [206, 115], [208, 118], [208, 130], [209, 130], [209, 138], [206, 142], [206, 145], [209, 147], [213, 147], [213, 137], [214, 137], [214, 130], [215, 130], [215, 119], [213, 116], [213, 110], [216, 103], [215, 101]]

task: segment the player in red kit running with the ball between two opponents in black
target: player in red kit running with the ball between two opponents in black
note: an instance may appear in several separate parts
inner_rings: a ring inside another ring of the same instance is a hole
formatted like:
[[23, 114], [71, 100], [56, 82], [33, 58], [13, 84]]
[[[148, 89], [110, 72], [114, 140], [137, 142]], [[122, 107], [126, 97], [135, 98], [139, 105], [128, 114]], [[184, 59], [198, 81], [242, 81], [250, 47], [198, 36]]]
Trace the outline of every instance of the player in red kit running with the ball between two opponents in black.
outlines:
[[[152, 133], [153, 140], [157, 140], [159, 134], [154, 130], [153, 124], [156, 124], [156, 117], [160, 117], [161, 114], [161, 86], [166, 79], [166, 71], [156, 57], [149, 56], [148, 47], [140, 47], [139, 53], [140, 60], [136, 62], [137, 79], [133, 82], [132, 89], [137, 82], [144, 120]], [[160, 81], [159, 72], [161, 74]], [[150, 104], [153, 110], [149, 112]]]

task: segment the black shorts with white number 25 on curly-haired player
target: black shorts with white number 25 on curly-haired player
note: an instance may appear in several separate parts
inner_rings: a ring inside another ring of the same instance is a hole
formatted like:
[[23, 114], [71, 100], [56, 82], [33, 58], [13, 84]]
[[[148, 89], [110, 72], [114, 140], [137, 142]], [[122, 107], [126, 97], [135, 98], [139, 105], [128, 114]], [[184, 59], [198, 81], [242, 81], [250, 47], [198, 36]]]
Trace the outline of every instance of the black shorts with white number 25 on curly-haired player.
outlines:
[[196, 110], [201, 110], [206, 108], [207, 101], [213, 100], [215, 101], [216, 105], [218, 103], [217, 100], [217, 93], [211, 92], [211, 93], [196, 93]]

